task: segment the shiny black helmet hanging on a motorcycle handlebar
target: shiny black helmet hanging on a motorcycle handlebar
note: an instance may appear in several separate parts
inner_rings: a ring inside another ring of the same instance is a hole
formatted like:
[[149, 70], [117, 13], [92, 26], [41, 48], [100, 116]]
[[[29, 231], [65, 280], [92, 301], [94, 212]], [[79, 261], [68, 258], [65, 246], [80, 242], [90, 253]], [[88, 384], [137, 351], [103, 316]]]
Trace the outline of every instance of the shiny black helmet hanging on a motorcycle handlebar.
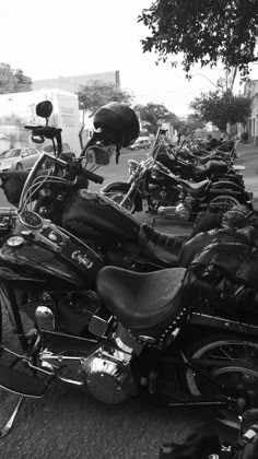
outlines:
[[110, 102], [101, 107], [94, 115], [93, 125], [95, 129], [101, 128], [103, 134], [118, 146], [128, 146], [140, 133], [136, 113], [120, 102]]

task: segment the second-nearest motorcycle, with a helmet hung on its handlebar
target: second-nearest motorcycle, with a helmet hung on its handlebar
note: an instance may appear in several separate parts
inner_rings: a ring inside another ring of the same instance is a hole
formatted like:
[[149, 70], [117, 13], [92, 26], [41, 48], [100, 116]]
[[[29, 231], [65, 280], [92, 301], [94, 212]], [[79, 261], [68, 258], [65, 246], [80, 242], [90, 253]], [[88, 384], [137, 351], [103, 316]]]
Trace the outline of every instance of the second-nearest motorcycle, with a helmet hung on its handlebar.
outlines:
[[[45, 104], [46, 102], [37, 107], [37, 114], [47, 119], [49, 113], [46, 111]], [[49, 108], [48, 103], [47, 108]], [[104, 110], [105, 116], [113, 117], [119, 113], [121, 125], [124, 114], [120, 113], [121, 108], [126, 110], [121, 104], [112, 105], [112, 107], [108, 105], [99, 111], [102, 116]], [[103, 132], [96, 132], [95, 143], [91, 139], [82, 155], [79, 158], [71, 158], [70, 162], [61, 158], [59, 129], [48, 126], [48, 122], [46, 126], [28, 127], [34, 141], [43, 141], [45, 137], [56, 141], [58, 154], [57, 157], [47, 153], [42, 155], [30, 175], [26, 172], [0, 174], [7, 199], [15, 204], [19, 211], [26, 202], [26, 205], [30, 204], [39, 216], [50, 220], [90, 246], [105, 264], [139, 272], [177, 266], [180, 247], [187, 236], [175, 238], [161, 234], [148, 225], [142, 225], [140, 221], [108, 198], [98, 192], [87, 191], [89, 181], [98, 184], [103, 181], [103, 177], [95, 170], [101, 165], [108, 164], [110, 148], [119, 141], [118, 133], [113, 134], [112, 138], [110, 126], [107, 122], [105, 125], [102, 118], [99, 121], [99, 111], [96, 113], [94, 122], [97, 128], [101, 122], [105, 130], [104, 140], [108, 138], [108, 142], [105, 141], [103, 145]], [[127, 110], [125, 115], [128, 119]], [[134, 125], [136, 122], [133, 132]], [[120, 126], [120, 130], [122, 129]], [[124, 130], [128, 131], [128, 123]], [[128, 133], [127, 137], [130, 139]], [[46, 163], [50, 168], [45, 167]], [[93, 164], [90, 170], [85, 168], [89, 164]], [[19, 200], [20, 203], [16, 202]]]

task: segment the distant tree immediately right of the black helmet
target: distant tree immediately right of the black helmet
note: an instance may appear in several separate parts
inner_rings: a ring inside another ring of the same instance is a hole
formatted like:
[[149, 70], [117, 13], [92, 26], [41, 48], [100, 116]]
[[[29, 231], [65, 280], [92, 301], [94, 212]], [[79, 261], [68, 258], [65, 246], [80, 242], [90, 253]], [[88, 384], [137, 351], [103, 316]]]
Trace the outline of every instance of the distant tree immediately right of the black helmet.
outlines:
[[150, 133], [156, 133], [157, 127], [161, 122], [178, 122], [178, 117], [169, 111], [163, 104], [154, 104], [150, 102], [146, 105], [138, 104], [133, 107], [134, 111], [139, 113], [142, 121], [146, 121], [146, 129]]

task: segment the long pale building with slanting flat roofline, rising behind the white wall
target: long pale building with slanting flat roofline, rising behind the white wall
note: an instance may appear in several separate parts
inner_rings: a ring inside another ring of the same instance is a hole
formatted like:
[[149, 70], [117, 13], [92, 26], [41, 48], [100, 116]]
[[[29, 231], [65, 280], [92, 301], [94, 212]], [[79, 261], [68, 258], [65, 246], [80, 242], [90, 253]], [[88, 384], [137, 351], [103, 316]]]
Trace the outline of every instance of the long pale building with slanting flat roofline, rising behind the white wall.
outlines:
[[86, 75], [75, 76], [59, 76], [56, 79], [37, 80], [33, 82], [33, 91], [48, 89], [61, 90], [70, 93], [78, 93], [80, 86], [91, 84], [94, 81], [103, 81], [105, 83], [113, 83], [117, 90], [120, 90], [120, 73], [119, 70], [102, 73], [91, 73]]

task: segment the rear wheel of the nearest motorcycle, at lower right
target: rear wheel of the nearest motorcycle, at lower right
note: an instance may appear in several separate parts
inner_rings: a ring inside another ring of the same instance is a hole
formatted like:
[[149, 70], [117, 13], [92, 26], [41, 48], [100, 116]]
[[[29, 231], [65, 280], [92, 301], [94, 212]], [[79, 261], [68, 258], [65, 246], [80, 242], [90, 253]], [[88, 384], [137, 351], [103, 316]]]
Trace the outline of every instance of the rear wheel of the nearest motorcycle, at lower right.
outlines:
[[[224, 385], [232, 397], [239, 397], [237, 387], [244, 386], [246, 391], [254, 391], [253, 403], [258, 402], [258, 339], [246, 336], [218, 333], [197, 341], [191, 348], [185, 350], [188, 358], [214, 358], [214, 366], [202, 367], [214, 380]], [[225, 365], [220, 366], [218, 358], [225, 360]], [[216, 361], [216, 362], [215, 362]], [[209, 381], [198, 372], [187, 366], [185, 368], [185, 382], [194, 396], [212, 398], [220, 396], [221, 389]], [[213, 412], [216, 420], [233, 427], [239, 427], [239, 411], [237, 407], [220, 408]]]

